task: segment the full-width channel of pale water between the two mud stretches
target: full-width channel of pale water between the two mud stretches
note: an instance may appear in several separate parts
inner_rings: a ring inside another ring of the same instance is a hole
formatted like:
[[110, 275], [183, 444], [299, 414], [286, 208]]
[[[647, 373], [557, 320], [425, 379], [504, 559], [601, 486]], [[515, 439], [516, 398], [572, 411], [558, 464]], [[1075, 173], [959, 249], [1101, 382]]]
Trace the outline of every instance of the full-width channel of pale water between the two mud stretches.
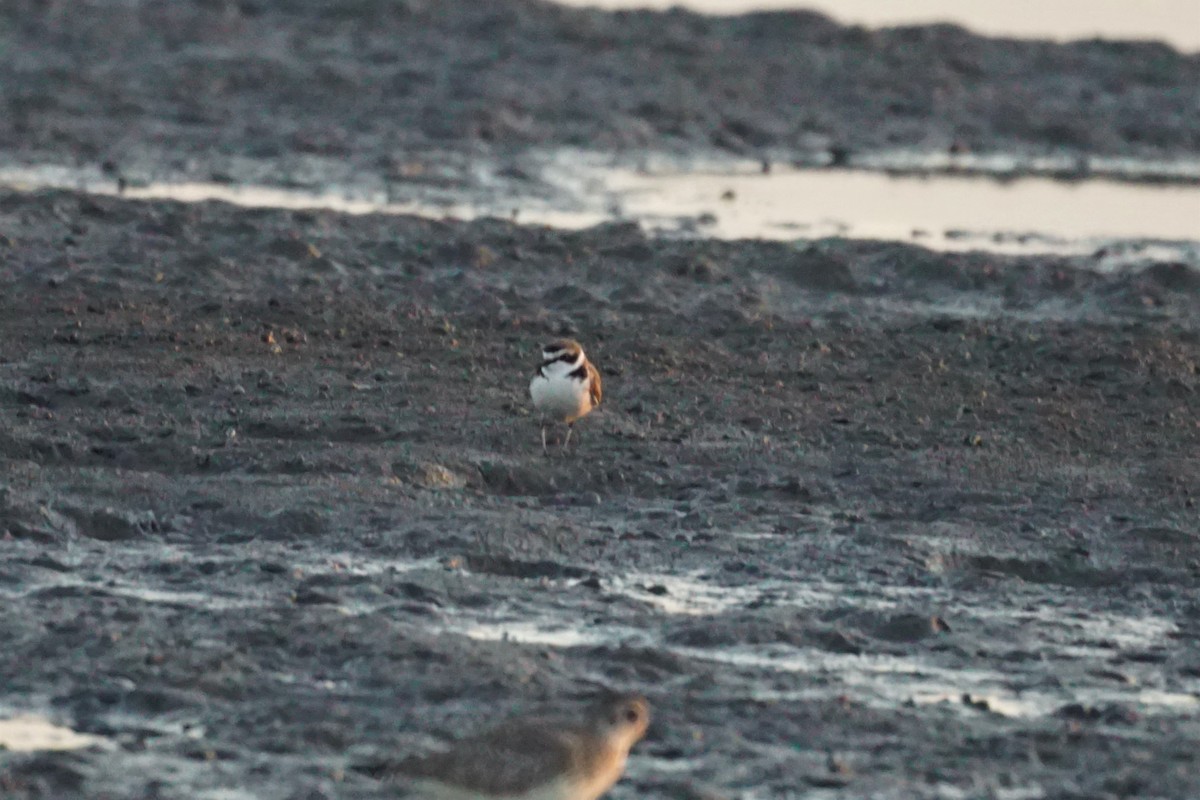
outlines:
[[[467, 190], [455, 199], [396, 201], [389, 190], [337, 186], [324, 191], [274, 186], [149, 182], [119, 191], [97, 170], [56, 166], [0, 169], [0, 185], [26, 191], [74, 188], [131, 199], [248, 207], [329, 209], [346, 213], [408, 213], [431, 218], [512, 217], [523, 224], [578, 229], [632, 219], [670, 235], [718, 239], [812, 240], [829, 236], [918, 243], [931, 249], [1009, 254], [1091, 254], [1098, 269], [1177, 260], [1200, 242], [1200, 184], [1139, 184], [1112, 178], [1051, 180], [1012, 174], [1013, 158], [954, 158], [938, 154], [875, 154], [856, 169], [773, 168], [720, 161], [680, 166], [648, 158], [641, 169], [596, 154], [538, 154], [536, 188], [488, 199]], [[1026, 163], [1051, 173], [1062, 164]], [[1193, 179], [1200, 164], [1114, 161], [1102, 174]], [[919, 174], [925, 170], [964, 174]], [[902, 170], [886, 174], [881, 170]], [[986, 176], [990, 175], [990, 176]], [[548, 197], [547, 197], [548, 187]], [[394, 191], [394, 190], [392, 190]], [[1124, 242], [1126, 245], [1121, 245]], [[1128, 242], [1138, 242], [1129, 247]]]

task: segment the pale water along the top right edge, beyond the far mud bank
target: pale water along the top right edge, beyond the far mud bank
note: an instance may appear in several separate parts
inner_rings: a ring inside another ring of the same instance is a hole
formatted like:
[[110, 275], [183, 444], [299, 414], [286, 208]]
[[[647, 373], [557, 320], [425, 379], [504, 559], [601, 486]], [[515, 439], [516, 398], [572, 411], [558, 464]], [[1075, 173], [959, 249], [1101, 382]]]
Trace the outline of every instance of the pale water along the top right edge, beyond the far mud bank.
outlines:
[[1200, 49], [1200, 4], [1194, 0], [558, 0], [599, 8], [670, 8], [709, 14], [811, 8], [834, 19], [882, 28], [948, 22], [990, 36], [1024, 38], [1158, 40]]

